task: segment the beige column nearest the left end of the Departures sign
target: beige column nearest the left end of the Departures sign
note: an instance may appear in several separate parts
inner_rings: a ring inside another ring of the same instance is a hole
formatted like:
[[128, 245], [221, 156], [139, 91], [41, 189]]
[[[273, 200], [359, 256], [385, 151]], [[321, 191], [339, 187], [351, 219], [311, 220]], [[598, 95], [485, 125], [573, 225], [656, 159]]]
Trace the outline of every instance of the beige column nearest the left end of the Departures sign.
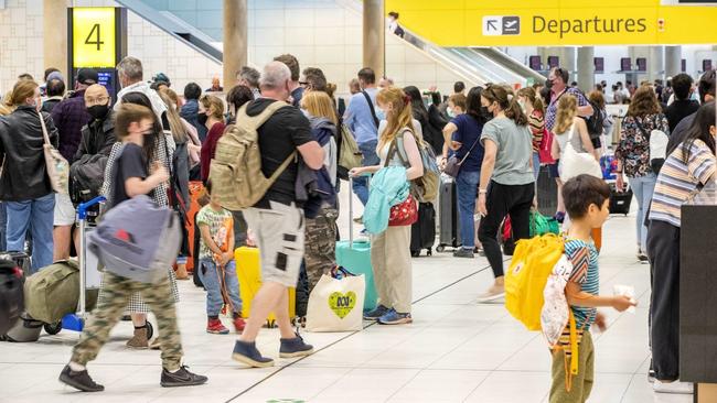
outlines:
[[386, 17], [384, 0], [364, 0], [364, 67], [376, 73], [376, 79], [385, 75]]

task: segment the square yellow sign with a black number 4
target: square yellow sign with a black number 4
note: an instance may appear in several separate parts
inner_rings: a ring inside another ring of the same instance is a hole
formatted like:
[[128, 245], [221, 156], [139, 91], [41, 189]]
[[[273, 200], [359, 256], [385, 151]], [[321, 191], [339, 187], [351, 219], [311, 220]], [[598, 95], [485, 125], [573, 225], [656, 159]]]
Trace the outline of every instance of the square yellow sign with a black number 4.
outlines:
[[115, 67], [115, 8], [74, 8], [73, 67]]

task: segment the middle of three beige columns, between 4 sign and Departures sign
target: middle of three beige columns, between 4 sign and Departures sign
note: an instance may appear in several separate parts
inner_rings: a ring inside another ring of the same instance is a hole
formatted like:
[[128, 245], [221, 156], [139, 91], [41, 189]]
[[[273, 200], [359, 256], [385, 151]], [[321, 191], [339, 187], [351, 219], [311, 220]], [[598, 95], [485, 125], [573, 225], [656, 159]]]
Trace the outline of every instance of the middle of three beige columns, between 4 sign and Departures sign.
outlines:
[[[45, 0], [46, 1], [46, 0]], [[236, 73], [248, 58], [247, 0], [224, 0], [224, 89], [236, 84]]]

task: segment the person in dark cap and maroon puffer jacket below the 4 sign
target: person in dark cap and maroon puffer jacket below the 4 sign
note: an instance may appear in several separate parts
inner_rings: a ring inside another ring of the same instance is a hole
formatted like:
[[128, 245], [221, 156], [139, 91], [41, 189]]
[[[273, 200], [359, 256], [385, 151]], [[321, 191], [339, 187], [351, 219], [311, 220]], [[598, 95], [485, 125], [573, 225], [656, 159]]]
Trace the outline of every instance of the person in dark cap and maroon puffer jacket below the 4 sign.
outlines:
[[[55, 122], [60, 134], [58, 150], [67, 161], [72, 161], [77, 152], [82, 139], [82, 128], [92, 119], [85, 106], [85, 91], [87, 87], [99, 81], [99, 75], [92, 68], [83, 68], [77, 72], [76, 78], [75, 91], [52, 109], [52, 120]], [[69, 258], [69, 243], [74, 224], [75, 207], [72, 204], [69, 195], [56, 194], [55, 229], [53, 231], [54, 261]], [[78, 247], [76, 242], [75, 247]]]

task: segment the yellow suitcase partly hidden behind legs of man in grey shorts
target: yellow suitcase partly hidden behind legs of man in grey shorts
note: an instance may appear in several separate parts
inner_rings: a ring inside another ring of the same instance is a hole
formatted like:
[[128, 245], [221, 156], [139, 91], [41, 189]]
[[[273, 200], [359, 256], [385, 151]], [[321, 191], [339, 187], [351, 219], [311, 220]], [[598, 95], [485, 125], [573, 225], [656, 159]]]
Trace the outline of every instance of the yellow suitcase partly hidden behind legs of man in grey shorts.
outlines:
[[[261, 268], [259, 265], [259, 250], [257, 248], [242, 247], [234, 251], [236, 261], [236, 276], [239, 280], [242, 295], [242, 317], [252, 315], [252, 302], [261, 287]], [[289, 288], [289, 318], [297, 313], [297, 288]], [[267, 327], [276, 326], [276, 315], [270, 313], [267, 317]]]

